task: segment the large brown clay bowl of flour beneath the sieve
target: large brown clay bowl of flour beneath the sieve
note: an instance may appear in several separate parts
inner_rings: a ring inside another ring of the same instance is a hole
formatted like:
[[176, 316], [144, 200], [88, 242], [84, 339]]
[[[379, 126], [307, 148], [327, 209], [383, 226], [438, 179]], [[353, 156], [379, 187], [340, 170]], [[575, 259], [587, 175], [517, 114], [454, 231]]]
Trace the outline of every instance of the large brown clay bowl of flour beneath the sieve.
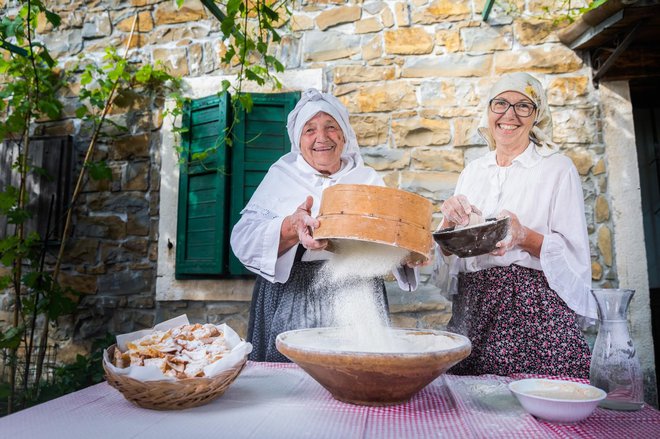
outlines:
[[470, 354], [470, 340], [445, 331], [390, 329], [400, 346], [388, 352], [346, 347], [346, 330], [311, 328], [278, 335], [277, 349], [332, 396], [359, 405], [407, 401]]

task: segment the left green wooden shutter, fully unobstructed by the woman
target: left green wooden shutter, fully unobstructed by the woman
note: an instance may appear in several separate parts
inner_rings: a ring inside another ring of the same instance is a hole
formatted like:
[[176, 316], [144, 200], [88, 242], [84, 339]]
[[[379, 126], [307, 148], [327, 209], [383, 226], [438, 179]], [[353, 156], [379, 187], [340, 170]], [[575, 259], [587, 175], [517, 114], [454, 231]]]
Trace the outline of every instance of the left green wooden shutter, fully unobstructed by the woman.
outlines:
[[[192, 101], [185, 109], [177, 215], [177, 278], [223, 274], [227, 266], [228, 96]], [[202, 158], [193, 155], [212, 148]]]

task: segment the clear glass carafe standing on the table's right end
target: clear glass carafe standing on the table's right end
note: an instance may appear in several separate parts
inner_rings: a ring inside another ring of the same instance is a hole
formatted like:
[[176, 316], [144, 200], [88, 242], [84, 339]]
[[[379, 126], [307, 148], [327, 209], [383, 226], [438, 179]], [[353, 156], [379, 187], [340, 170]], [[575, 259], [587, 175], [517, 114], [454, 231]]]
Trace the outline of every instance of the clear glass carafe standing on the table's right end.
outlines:
[[638, 410], [644, 404], [642, 368], [628, 332], [628, 305], [635, 290], [595, 289], [600, 327], [589, 379], [607, 392], [601, 407]]

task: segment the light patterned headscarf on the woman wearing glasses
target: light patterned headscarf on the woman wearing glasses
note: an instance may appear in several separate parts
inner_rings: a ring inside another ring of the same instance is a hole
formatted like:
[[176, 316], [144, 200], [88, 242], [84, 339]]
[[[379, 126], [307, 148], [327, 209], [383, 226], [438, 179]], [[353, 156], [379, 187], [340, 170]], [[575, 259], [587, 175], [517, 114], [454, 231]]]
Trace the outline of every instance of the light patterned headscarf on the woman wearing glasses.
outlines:
[[515, 91], [523, 94], [536, 105], [536, 117], [534, 118], [532, 130], [529, 132], [529, 140], [534, 142], [536, 150], [543, 156], [556, 153], [559, 147], [552, 142], [552, 116], [550, 115], [545, 90], [543, 90], [543, 86], [538, 79], [522, 72], [503, 75], [493, 84], [488, 93], [488, 105], [477, 129], [479, 135], [488, 143], [488, 146], [495, 149], [495, 139], [493, 139], [488, 127], [490, 101], [505, 91]]

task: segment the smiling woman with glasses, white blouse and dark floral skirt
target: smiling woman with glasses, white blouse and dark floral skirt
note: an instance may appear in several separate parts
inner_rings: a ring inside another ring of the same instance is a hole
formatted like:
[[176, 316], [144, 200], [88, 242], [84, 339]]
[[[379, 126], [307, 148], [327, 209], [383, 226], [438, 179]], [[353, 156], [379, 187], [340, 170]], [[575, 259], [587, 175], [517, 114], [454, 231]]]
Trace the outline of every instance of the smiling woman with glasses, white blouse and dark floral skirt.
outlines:
[[578, 315], [596, 318], [582, 185], [551, 142], [545, 92], [526, 73], [503, 76], [479, 133], [491, 150], [461, 173], [440, 228], [470, 214], [509, 216], [509, 235], [486, 255], [436, 258], [437, 284], [453, 296], [448, 329], [472, 341], [458, 374], [588, 377]]

